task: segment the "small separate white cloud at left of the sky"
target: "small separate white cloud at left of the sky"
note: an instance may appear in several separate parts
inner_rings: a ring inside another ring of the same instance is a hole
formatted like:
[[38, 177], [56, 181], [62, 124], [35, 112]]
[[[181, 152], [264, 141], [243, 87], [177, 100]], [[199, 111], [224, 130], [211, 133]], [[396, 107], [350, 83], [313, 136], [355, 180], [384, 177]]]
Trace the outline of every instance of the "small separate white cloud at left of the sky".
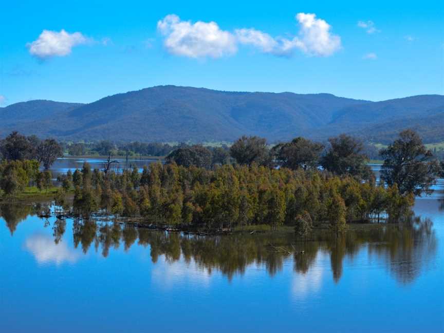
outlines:
[[29, 53], [40, 59], [64, 57], [71, 53], [72, 47], [85, 44], [88, 39], [80, 32], [69, 33], [64, 29], [57, 31], [43, 30], [39, 38], [26, 44]]

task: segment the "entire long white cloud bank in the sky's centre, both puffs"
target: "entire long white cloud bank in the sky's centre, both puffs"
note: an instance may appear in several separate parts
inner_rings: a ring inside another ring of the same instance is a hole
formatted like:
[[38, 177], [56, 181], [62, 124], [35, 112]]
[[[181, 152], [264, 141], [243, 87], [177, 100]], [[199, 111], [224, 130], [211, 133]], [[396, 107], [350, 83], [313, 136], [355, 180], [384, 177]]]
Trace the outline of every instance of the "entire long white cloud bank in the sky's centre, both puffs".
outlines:
[[168, 52], [190, 58], [213, 57], [234, 54], [237, 44], [250, 45], [263, 53], [289, 56], [295, 49], [314, 56], [327, 57], [341, 48], [341, 38], [332, 34], [331, 26], [316, 14], [298, 13], [295, 16], [300, 30], [293, 38], [242, 28], [234, 32], [224, 31], [215, 22], [191, 23], [179, 16], [167, 15], [157, 23], [158, 31], [165, 36]]

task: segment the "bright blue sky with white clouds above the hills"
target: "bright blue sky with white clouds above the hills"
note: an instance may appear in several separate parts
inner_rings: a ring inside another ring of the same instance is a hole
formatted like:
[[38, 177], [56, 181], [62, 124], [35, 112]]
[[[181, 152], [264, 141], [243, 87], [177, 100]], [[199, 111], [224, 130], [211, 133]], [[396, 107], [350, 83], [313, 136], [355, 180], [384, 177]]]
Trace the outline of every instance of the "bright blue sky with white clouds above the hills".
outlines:
[[5, 1], [0, 102], [92, 102], [164, 84], [369, 100], [444, 94], [443, 7]]

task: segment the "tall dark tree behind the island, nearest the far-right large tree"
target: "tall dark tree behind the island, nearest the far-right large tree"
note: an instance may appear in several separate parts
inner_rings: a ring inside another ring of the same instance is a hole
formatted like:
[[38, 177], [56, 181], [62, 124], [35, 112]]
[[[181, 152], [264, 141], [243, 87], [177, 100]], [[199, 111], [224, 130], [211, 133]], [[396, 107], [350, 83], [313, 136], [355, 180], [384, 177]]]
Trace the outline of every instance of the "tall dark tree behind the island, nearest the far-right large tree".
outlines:
[[336, 175], [351, 175], [360, 179], [373, 176], [372, 170], [365, 164], [367, 157], [362, 153], [363, 145], [360, 141], [345, 134], [328, 141], [330, 147], [321, 158], [324, 169]]

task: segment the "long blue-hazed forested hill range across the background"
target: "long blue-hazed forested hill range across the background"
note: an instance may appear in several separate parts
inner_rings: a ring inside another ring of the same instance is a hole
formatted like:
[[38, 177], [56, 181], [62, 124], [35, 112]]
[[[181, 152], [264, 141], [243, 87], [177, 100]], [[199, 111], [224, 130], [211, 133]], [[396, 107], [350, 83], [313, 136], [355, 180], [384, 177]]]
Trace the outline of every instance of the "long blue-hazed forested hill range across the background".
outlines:
[[295, 136], [325, 139], [345, 132], [378, 141], [379, 134], [391, 139], [405, 126], [421, 122], [419, 134], [433, 133], [426, 141], [436, 142], [444, 140], [444, 129], [436, 124], [443, 115], [440, 95], [369, 102], [330, 94], [156, 86], [89, 104], [12, 104], [0, 108], [0, 135], [16, 130], [59, 140], [199, 142], [233, 141], [244, 134], [270, 141]]

